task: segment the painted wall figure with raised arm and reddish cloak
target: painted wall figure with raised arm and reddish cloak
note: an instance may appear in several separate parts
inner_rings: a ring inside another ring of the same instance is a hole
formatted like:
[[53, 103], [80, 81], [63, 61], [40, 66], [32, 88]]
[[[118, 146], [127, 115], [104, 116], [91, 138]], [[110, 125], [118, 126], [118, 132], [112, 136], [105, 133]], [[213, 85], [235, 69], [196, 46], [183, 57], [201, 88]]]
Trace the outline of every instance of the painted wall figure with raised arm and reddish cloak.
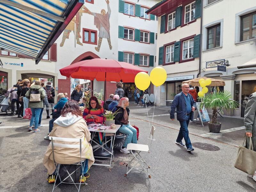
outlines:
[[89, 9], [86, 7], [84, 8], [84, 12], [91, 14], [94, 16], [94, 25], [96, 28], [99, 29], [99, 41], [98, 41], [98, 47], [95, 47], [95, 50], [97, 52], [100, 51], [100, 45], [103, 38], [106, 38], [108, 40], [109, 49], [112, 49], [111, 41], [110, 41], [110, 24], [109, 24], [109, 17], [110, 17], [110, 7], [109, 7], [109, 0], [106, 0], [107, 6], [108, 6], [108, 12], [106, 13], [105, 9], [102, 9], [100, 13], [94, 13], [90, 12]]

